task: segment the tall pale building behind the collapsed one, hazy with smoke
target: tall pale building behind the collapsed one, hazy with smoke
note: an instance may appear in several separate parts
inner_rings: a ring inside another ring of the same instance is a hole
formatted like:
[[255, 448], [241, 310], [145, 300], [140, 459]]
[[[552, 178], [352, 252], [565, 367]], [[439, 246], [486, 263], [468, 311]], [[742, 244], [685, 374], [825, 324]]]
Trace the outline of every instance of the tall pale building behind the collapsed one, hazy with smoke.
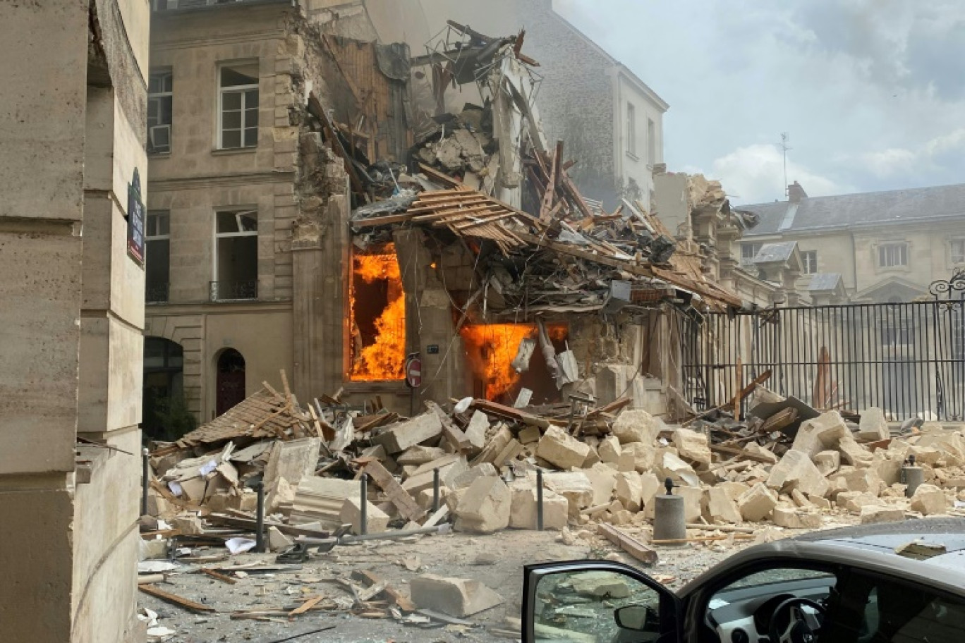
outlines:
[[[669, 105], [557, 13], [551, 0], [367, 0], [365, 5], [382, 40], [404, 39], [413, 55], [438, 48], [448, 19], [491, 37], [525, 29], [522, 51], [539, 63], [543, 80], [537, 94], [543, 130], [551, 144], [565, 141], [566, 158], [578, 161], [570, 170], [577, 186], [611, 211], [620, 196], [649, 207], [652, 170], [664, 162], [663, 115]], [[448, 107], [458, 113], [471, 98], [453, 99], [460, 102]]]

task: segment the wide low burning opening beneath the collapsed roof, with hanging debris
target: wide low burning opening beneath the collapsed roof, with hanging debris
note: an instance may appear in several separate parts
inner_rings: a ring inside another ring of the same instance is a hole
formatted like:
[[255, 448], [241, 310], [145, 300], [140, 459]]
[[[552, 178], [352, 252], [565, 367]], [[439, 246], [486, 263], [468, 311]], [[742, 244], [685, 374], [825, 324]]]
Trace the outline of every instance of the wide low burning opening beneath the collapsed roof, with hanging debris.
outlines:
[[[565, 325], [548, 325], [546, 334], [558, 354], [565, 350], [568, 335]], [[535, 324], [477, 324], [464, 327], [459, 335], [473, 374], [485, 388], [487, 400], [511, 404], [523, 387], [533, 391], [534, 403], [560, 398], [538, 347], [522, 372], [511, 365], [524, 339], [538, 343]]]

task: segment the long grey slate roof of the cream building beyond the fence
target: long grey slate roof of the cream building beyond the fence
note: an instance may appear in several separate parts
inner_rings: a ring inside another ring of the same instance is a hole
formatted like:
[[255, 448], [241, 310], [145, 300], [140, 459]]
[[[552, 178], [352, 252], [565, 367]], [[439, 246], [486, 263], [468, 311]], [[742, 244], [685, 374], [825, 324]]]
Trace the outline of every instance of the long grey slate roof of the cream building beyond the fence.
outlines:
[[758, 225], [748, 229], [744, 233], [745, 238], [788, 231], [855, 228], [921, 220], [965, 220], [965, 183], [834, 197], [806, 197], [796, 203], [775, 201], [740, 205], [733, 209], [758, 215]]

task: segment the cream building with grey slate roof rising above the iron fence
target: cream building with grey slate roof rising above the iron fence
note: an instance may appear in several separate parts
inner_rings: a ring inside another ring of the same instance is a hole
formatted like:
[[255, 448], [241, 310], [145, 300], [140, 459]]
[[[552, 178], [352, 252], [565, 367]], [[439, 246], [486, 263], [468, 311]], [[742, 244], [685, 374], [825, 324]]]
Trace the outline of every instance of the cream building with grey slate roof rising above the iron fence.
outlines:
[[809, 197], [734, 209], [758, 218], [734, 253], [754, 270], [768, 244], [795, 242], [796, 289], [813, 303], [896, 303], [928, 296], [932, 281], [965, 266], [965, 184]]

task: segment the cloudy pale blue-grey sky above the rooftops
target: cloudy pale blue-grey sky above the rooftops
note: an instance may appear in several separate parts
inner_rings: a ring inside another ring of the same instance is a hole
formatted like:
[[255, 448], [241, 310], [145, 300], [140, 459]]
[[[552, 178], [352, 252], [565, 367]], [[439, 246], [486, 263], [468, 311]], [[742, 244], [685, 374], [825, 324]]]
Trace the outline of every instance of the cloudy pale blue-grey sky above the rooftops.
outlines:
[[737, 203], [965, 182], [965, 0], [554, 0]]

